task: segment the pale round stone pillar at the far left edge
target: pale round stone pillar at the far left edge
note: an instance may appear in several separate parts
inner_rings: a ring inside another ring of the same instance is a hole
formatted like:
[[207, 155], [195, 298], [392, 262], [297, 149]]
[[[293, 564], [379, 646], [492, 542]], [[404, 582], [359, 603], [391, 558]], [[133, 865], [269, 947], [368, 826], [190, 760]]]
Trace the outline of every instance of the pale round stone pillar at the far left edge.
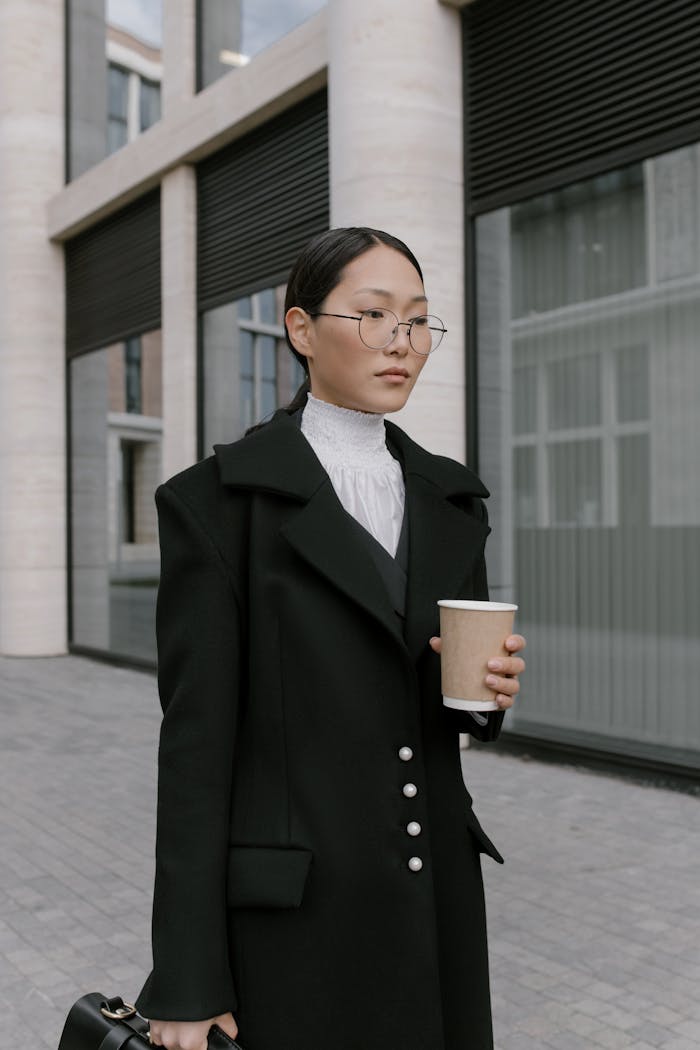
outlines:
[[0, 653], [66, 650], [63, 3], [0, 4]]

